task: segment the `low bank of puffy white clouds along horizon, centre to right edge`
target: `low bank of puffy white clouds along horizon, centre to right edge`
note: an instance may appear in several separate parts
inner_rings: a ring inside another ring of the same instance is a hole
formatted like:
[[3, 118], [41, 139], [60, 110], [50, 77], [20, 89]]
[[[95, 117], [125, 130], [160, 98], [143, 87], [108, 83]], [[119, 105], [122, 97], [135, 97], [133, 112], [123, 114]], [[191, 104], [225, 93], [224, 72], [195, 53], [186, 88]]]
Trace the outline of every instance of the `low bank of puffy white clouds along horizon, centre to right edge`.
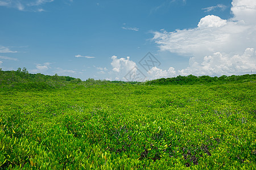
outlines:
[[[242, 54], [231, 55], [221, 52], [213, 53], [210, 56], [205, 56], [203, 61], [197, 62], [195, 57], [189, 59], [189, 66], [185, 69], [175, 70], [174, 67], [169, 67], [167, 70], [152, 67], [147, 71], [147, 74], [142, 73], [138, 69], [137, 64], [130, 61], [130, 58], [112, 57], [113, 72], [110, 72], [112, 77], [109, 80], [124, 80], [133, 79], [134, 81], [144, 81], [159, 78], [175, 77], [177, 75], [187, 76], [193, 75], [242, 75], [250, 74], [251, 71], [256, 70], [256, 51], [254, 48], [246, 48]], [[104, 70], [98, 67], [98, 70]], [[105, 74], [105, 71], [100, 71], [98, 74]], [[136, 76], [136, 78], [129, 78], [129, 76]]]

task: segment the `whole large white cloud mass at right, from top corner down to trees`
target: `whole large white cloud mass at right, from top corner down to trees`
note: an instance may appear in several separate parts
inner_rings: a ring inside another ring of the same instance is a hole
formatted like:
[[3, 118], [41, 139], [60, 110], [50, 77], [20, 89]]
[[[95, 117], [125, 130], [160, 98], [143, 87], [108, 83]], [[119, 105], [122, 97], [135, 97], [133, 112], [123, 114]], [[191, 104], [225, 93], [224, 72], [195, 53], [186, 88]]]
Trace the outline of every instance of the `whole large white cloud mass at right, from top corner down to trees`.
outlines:
[[256, 1], [233, 0], [231, 12], [228, 20], [207, 15], [193, 29], [154, 32], [153, 40], [162, 51], [190, 57], [189, 67], [177, 74], [250, 73], [256, 69]]

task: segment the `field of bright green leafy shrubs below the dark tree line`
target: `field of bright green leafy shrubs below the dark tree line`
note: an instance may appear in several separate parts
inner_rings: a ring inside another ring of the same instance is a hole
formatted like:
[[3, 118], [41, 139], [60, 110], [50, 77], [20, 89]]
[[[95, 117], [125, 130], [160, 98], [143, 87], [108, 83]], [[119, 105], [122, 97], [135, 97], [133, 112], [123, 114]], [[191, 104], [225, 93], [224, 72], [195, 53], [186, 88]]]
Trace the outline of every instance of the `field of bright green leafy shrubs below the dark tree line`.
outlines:
[[256, 168], [255, 81], [73, 82], [0, 88], [0, 169]]

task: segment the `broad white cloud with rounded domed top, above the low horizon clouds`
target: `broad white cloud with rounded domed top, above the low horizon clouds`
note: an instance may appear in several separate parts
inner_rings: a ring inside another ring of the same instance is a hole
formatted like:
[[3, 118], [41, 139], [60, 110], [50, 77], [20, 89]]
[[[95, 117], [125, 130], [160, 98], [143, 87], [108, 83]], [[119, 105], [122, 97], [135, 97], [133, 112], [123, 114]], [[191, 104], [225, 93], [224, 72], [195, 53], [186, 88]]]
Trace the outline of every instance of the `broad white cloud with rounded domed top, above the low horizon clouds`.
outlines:
[[160, 50], [168, 50], [183, 56], [204, 57], [226, 49], [232, 51], [233, 45], [243, 45], [240, 51], [244, 50], [250, 43], [245, 45], [241, 41], [246, 39], [245, 31], [251, 29], [245, 25], [222, 20], [218, 16], [208, 15], [200, 20], [197, 28], [154, 32], [153, 40], [159, 45]]

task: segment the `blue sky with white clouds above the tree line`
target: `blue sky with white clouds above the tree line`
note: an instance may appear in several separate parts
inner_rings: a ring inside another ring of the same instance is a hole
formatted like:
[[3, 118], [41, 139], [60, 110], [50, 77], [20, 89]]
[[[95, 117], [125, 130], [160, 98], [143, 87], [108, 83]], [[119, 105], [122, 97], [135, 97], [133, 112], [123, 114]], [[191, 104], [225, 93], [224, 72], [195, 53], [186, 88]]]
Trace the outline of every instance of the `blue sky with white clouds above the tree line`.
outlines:
[[145, 81], [256, 72], [255, 0], [0, 0], [0, 68]]

